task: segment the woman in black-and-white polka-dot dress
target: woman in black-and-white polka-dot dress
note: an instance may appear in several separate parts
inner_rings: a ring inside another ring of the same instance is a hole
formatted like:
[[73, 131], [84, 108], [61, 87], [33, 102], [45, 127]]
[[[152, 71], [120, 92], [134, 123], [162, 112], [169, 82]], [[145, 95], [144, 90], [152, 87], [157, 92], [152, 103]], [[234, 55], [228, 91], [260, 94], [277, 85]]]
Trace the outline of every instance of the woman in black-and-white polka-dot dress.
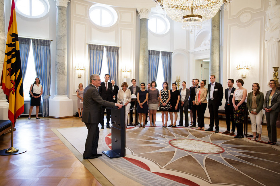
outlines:
[[[168, 83], [165, 81], [162, 84], [163, 89], [159, 92], [159, 100], [161, 104], [159, 105], [159, 109], [161, 110], [161, 120], [162, 127], [167, 127], [168, 121], [168, 111], [170, 108], [170, 90], [168, 90]], [[164, 114], [165, 114], [165, 123], [164, 123]]]

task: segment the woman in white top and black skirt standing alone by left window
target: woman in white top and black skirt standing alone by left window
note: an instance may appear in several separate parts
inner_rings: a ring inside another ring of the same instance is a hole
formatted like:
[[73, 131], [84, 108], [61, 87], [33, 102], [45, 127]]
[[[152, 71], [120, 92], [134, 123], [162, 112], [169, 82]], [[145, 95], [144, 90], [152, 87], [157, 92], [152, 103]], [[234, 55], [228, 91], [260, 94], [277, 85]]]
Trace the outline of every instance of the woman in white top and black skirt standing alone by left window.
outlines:
[[35, 78], [34, 83], [30, 86], [30, 109], [29, 109], [29, 117], [28, 119], [31, 119], [31, 113], [33, 110], [33, 107], [36, 106], [36, 119], [40, 119], [38, 117], [39, 113], [39, 106], [41, 105], [41, 95], [43, 94], [43, 87], [40, 84], [39, 78]]

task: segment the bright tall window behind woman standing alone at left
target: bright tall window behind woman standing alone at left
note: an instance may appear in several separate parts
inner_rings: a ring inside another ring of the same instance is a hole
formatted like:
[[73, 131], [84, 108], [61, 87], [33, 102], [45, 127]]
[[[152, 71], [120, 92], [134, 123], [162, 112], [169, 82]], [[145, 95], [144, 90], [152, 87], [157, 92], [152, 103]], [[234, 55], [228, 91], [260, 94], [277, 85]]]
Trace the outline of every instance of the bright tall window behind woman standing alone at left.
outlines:
[[28, 62], [27, 62], [27, 67], [26, 67], [26, 74], [25, 74], [24, 82], [23, 82], [24, 100], [30, 99], [28, 93], [29, 93], [31, 84], [34, 83], [34, 80], [36, 77], [37, 76], [36, 76], [36, 71], [35, 71], [35, 62], [34, 62], [33, 47], [32, 47], [32, 40], [31, 40], [30, 52], [29, 52]]

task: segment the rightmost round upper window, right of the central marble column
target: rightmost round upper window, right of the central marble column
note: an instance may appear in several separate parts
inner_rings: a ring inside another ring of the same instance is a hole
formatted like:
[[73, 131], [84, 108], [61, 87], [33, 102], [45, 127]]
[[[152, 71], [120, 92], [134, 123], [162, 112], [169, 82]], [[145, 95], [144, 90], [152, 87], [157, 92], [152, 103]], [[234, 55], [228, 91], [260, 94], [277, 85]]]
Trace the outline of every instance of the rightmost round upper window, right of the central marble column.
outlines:
[[165, 34], [170, 29], [169, 20], [162, 15], [152, 15], [148, 22], [149, 30], [156, 34]]

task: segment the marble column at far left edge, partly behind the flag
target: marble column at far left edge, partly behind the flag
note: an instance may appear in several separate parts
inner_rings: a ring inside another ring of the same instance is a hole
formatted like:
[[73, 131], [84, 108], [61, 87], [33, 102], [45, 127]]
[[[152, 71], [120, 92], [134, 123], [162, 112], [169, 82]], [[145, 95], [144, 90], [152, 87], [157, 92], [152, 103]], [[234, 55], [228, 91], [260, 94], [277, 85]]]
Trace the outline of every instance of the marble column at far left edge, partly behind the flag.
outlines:
[[[10, 11], [11, 12], [11, 11]], [[6, 48], [6, 34], [5, 33], [5, 11], [4, 11], [4, 0], [0, 0], [0, 69], [2, 72], [4, 58], [5, 58], [5, 48]], [[0, 120], [8, 119], [9, 104], [6, 100], [6, 95], [3, 90], [0, 90]]]

